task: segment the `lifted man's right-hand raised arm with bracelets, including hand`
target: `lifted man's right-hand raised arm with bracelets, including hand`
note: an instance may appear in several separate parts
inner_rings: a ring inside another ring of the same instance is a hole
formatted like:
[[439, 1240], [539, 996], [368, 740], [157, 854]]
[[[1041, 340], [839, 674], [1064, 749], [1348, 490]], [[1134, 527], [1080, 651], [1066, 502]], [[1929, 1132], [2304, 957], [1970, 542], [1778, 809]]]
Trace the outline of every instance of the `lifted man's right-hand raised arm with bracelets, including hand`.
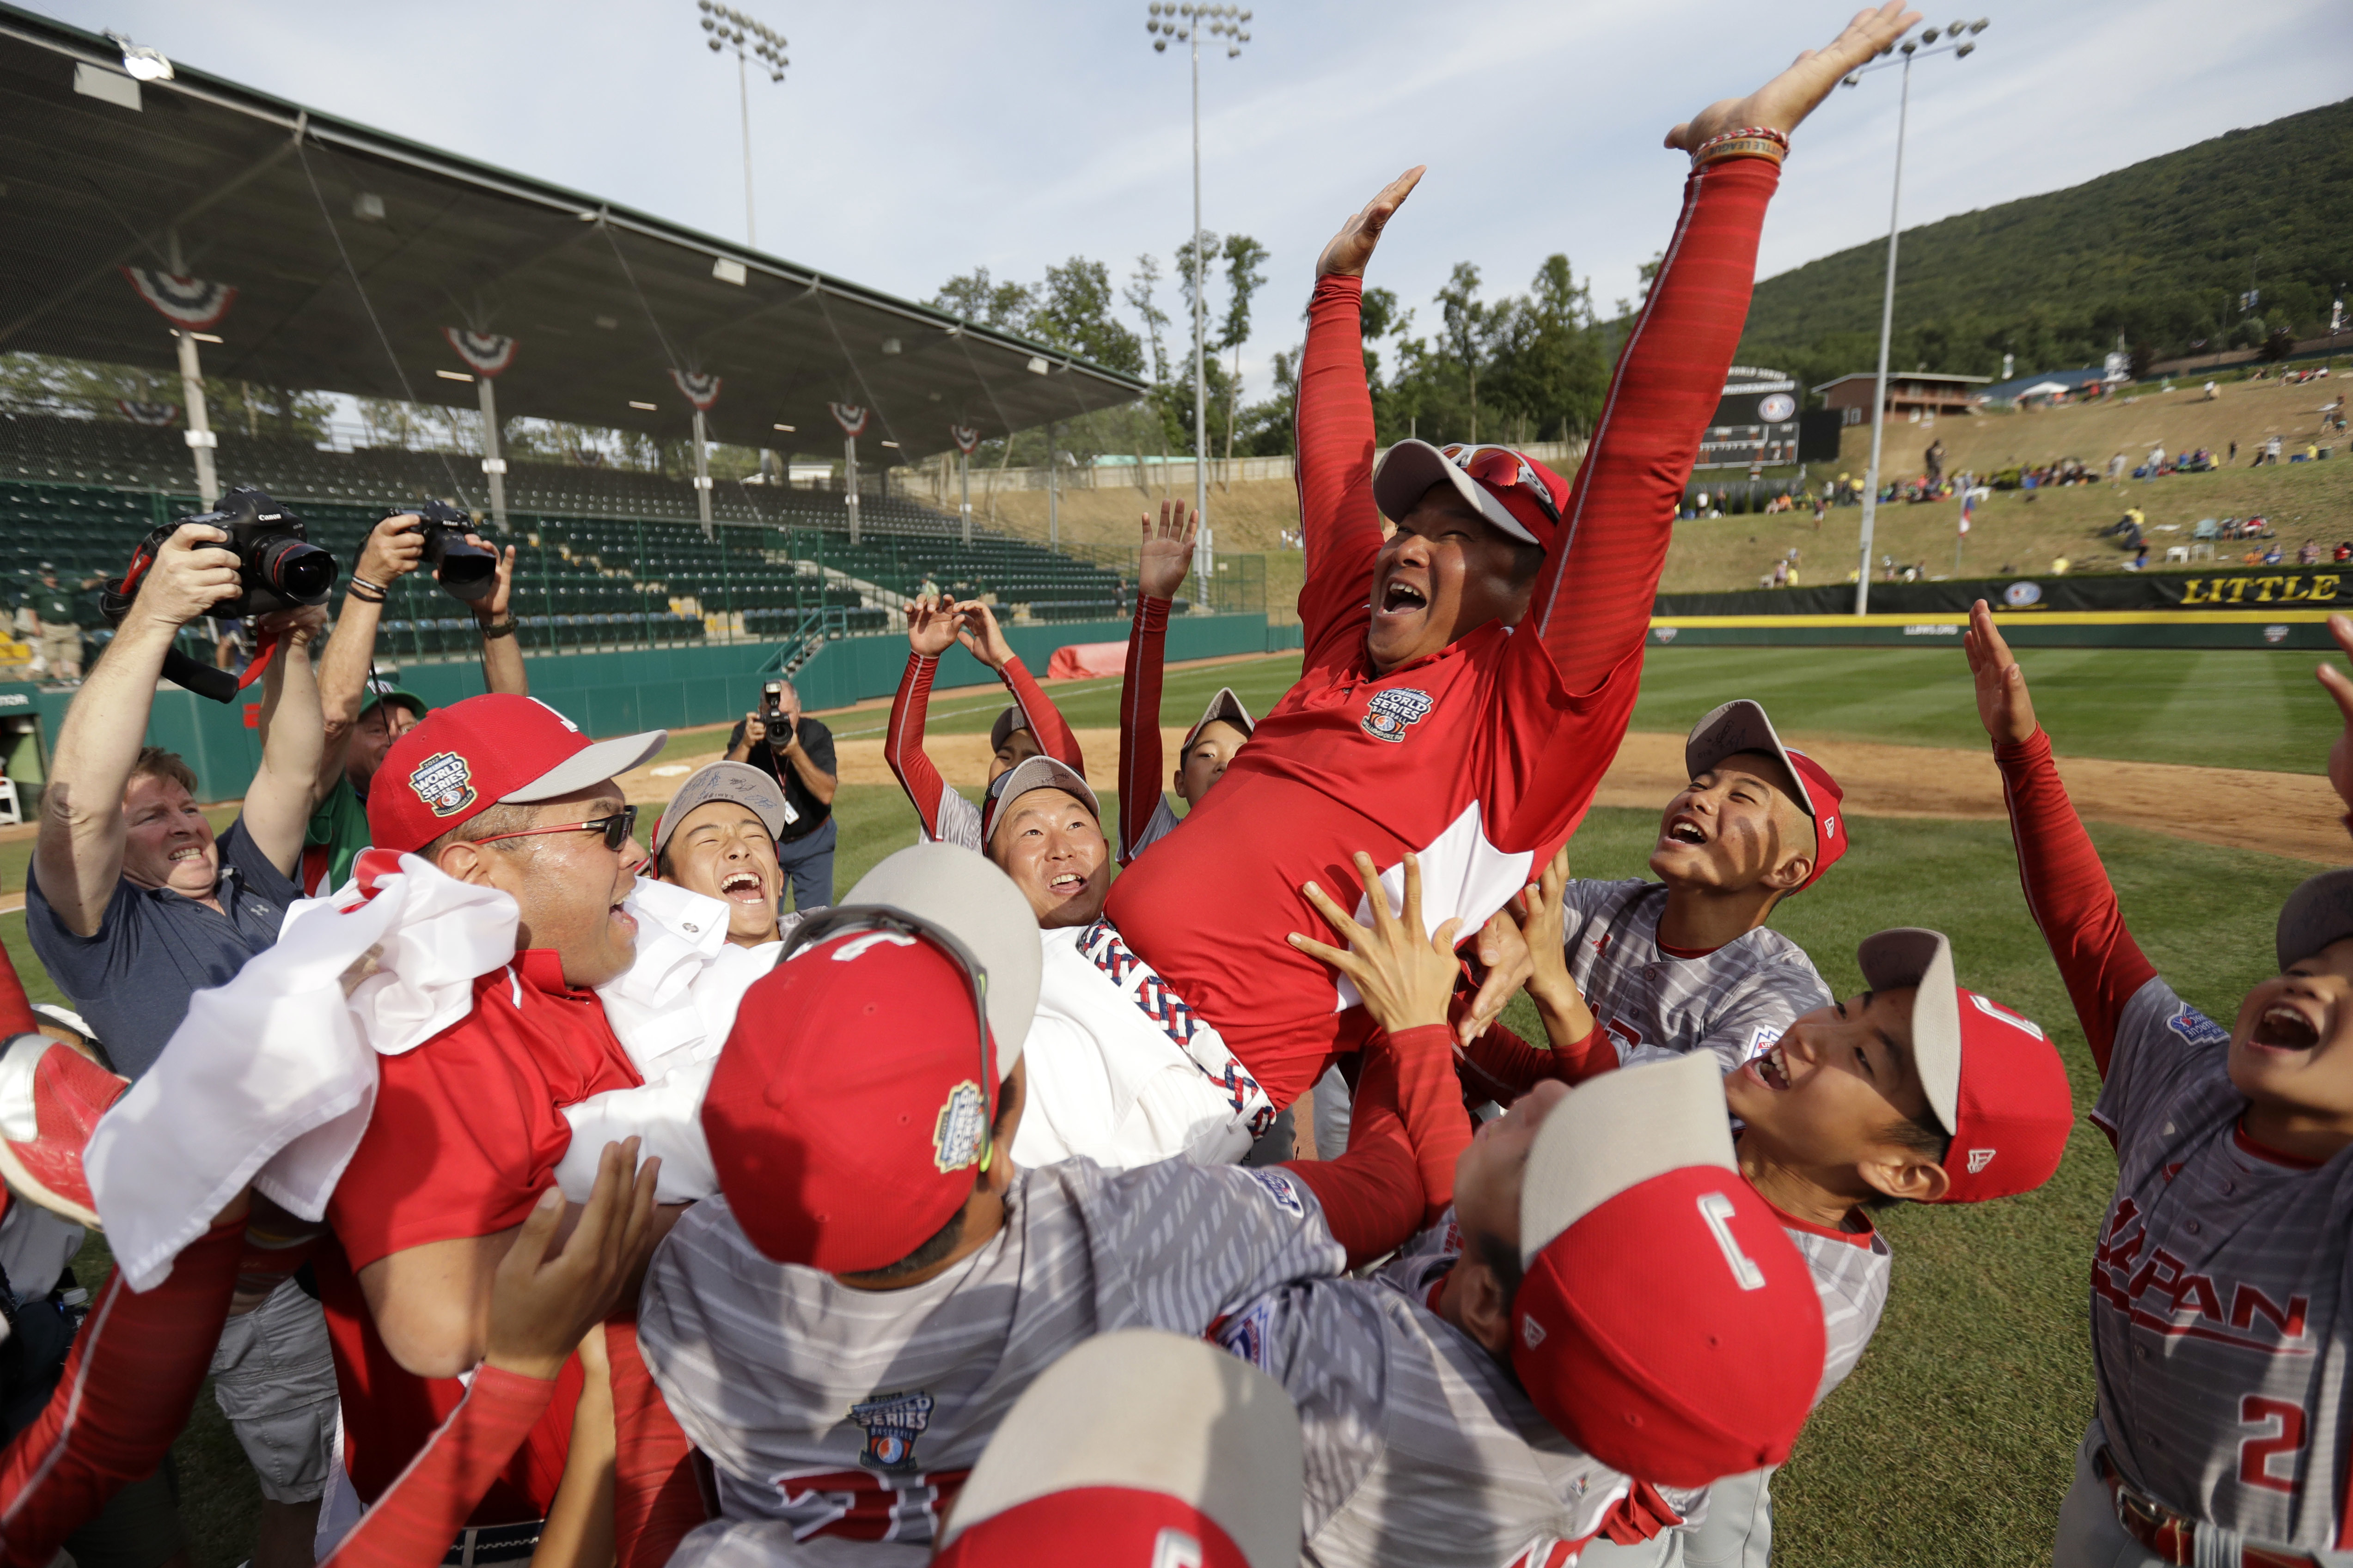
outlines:
[[[1675, 505], [1748, 322], [1758, 233], [1781, 167], [1769, 155], [1727, 155], [1741, 148], [1711, 141], [1762, 127], [1786, 143], [1847, 71], [1913, 21], [1918, 14], [1901, 0], [1861, 12], [1826, 49], [1807, 49], [1751, 96], [1713, 103], [1668, 132], [1666, 146], [1701, 162], [1685, 181], [1682, 214], [1626, 334], [1560, 543], [1522, 623], [1541, 637], [1572, 696], [1595, 691], [1642, 654]], [[1767, 141], [1748, 146], [1769, 153]]]

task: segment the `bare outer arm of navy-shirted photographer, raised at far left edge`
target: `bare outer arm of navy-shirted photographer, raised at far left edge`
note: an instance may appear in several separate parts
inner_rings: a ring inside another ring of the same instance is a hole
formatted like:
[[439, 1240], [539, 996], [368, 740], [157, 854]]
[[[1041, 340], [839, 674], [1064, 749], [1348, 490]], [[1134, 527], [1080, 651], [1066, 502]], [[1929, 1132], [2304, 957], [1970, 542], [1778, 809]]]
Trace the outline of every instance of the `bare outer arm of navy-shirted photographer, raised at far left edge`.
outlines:
[[221, 529], [191, 522], [155, 550], [115, 639], [73, 693], [56, 731], [49, 788], [40, 792], [33, 875], [75, 936], [99, 933], [122, 879], [122, 788], [146, 743], [162, 656], [181, 625], [238, 597], [238, 557], [216, 548], [226, 538]]

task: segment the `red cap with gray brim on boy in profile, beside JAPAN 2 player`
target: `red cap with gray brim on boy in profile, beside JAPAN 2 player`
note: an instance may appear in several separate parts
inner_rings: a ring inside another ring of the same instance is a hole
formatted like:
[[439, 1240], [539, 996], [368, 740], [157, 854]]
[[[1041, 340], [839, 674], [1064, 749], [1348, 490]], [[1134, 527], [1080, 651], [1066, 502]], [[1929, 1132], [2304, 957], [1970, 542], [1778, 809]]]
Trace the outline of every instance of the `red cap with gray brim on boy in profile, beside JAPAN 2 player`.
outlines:
[[1953, 1135], [1944, 1204], [2033, 1192], [2059, 1168], [2075, 1128], [2059, 1048], [2028, 1018], [1953, 980], [1941, 931], [1899, 926], [1854, 952], [1871, 990], [1913, 992], [1913, 1065], [1927, 1105]]

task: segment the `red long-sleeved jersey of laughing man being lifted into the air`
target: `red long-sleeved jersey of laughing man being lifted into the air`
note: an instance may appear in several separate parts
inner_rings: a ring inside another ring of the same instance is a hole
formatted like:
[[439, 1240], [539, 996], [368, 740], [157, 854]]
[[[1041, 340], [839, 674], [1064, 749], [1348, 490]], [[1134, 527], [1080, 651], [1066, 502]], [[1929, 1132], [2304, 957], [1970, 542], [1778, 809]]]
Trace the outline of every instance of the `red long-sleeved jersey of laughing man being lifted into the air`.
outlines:
[[1468, 936], [1593, 804], [1633, 712], [1668, 531], [1748, 317], [1777, 183], [1762, 160], [1708, 165], [1685, 183], [1520, 625], [1482, 625], [1386, 675], [1365, 654], [1381, 517], [1362, 282], [1315, 284], [1299, 369], [1306, 672], [1186, 832], [1127, 867], [1108, 903], [1127, 945], [1275, 1105], [1369, 1027], [1344, 1013], [1353, 990], [1282, 940], [1325, 931], [1304, 882], [1351, 889], [1351, 856], [1367, 851], [1395, 898], [1414, 851], [1424, 917], [1433, 929], [1461, 917]]

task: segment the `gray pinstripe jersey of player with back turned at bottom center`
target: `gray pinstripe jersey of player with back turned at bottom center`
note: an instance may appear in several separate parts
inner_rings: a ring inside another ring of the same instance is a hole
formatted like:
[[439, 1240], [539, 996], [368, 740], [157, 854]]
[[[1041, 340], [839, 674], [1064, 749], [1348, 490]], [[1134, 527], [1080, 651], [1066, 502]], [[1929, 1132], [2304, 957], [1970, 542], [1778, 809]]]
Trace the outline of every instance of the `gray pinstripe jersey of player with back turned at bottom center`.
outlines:
[[1113, 1328], [1198, 1335], [1346, 1253], [1282, 1171], [1087, 1159], [1021, 1171], [1005, 1229], [906, 1291], [769, 1262], [725, 1199], [664, 1239], [638, 1342], [727, 1519], [920, 1544], [1014, 1399]]

